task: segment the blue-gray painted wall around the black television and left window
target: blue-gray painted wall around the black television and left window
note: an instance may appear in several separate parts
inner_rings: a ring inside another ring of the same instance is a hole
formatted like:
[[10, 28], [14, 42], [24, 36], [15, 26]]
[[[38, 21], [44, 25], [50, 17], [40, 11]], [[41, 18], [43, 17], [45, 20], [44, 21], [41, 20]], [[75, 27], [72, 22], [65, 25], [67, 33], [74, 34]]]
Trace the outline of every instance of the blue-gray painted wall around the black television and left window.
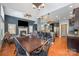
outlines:
[[[24, 19], [5, 15], [5, 32], [8, 31], [8, 24], [16, 24], [16, 35], [18, 35], [18, 20], [24, 20]], [[27, 21], [29, 22], [29, 25], [34, 24], [34, 21], [29, 20]]]

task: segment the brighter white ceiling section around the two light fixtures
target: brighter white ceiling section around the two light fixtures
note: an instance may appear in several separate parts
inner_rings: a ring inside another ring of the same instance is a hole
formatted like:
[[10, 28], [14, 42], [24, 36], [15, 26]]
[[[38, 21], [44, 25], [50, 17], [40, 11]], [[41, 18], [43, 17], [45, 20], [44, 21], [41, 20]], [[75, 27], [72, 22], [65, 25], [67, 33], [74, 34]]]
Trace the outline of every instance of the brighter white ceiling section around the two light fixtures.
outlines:
[[3, 3], [2, 5], [5, 7], [5, 13], [8, 15], [23, 18], [25, 13], [29, 13], [33, 18], [37, 18], [69, 4], [70, 3], [46, 3], [45, 8], [40, 10], [33, 9], [32, 3]]

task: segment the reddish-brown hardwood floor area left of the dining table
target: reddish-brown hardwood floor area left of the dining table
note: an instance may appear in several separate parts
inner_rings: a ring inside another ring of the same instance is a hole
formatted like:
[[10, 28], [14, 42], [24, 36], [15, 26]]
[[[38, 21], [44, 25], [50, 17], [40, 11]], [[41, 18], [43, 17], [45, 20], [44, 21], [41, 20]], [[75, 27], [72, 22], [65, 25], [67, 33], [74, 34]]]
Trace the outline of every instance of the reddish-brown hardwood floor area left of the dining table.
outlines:
[[15, 49], [15, 44], [9, 45], [8, 43], [5, 43], [0, 50], [0, 56], [15, 56]]

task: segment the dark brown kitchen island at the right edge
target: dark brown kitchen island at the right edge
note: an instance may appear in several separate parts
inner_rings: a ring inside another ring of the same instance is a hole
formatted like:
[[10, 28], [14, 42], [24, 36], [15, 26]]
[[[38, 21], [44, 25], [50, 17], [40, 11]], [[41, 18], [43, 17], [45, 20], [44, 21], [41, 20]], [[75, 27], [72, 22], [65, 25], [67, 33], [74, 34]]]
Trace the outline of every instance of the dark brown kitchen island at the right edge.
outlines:
[[79, 52], [79, 36], [78, 35], [67, 36], [67, 47], [75, 52]]

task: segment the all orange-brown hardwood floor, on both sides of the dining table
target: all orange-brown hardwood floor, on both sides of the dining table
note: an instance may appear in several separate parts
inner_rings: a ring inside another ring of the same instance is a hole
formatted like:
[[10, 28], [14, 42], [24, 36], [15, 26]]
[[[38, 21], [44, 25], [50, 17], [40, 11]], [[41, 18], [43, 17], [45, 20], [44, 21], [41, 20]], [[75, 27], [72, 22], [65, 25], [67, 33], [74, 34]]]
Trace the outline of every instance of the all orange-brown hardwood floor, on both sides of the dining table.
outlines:
[[[0, 56], [15, 56], [15, 45], [7, 44], [0, 50]], [[56, 38], [55, 43], [52, 44], [48, 51], [48, 56], [79, 56], [79, 53], [73, 52], [67, 48], [66, 37]]]

